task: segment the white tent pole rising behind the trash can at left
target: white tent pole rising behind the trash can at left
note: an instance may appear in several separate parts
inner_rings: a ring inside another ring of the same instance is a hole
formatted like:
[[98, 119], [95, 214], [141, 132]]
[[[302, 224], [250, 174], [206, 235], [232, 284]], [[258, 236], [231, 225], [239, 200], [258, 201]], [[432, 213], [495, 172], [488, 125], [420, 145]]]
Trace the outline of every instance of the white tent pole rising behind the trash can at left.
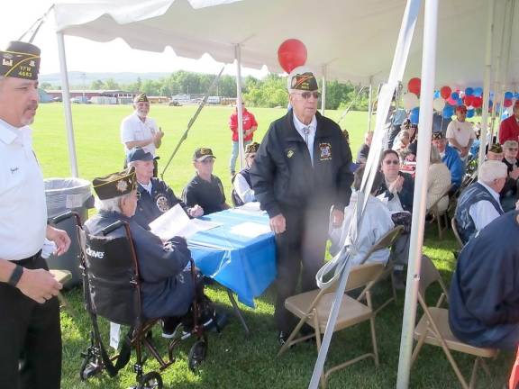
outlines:
[[58, 38], [59, 68], [61, 72], [61, 100], [65, 110], [65, 125], [67, 127], [68, 161], [73, 177], [78, 177], [76, 143], [74, 140], [74, 127], [72, 125], [72, 107], [70, 105], [70, 88], [68, 86], [67, 57], [65, 55], [65, 39], [63, 32], [56, 32]]

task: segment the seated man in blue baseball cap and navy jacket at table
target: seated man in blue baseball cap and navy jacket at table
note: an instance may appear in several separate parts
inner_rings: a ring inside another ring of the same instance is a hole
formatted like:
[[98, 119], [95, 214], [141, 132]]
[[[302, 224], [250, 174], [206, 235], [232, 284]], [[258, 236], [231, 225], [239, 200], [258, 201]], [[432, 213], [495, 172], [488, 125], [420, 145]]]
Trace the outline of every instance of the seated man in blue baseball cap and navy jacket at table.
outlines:
[[142, 228], [149, 230], [150, 222], [177, 204], [180, 204], [190, 217], [202, 216], [204, 210], [201, 206], [196, 204], [192, 208], [188, 208], [164, 181], [153, 177], [154, 159], [150, 152], [141, 148], [131, 149], [128, 154], [128, 166], [135, 167], [137, 194], [139, 195], [133, 220]]

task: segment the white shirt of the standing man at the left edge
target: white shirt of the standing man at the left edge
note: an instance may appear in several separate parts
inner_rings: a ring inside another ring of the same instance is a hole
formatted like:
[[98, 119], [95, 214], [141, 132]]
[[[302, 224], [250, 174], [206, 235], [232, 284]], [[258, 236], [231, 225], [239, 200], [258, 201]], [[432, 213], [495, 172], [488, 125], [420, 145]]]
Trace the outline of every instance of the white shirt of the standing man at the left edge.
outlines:
[[0, 258], [36, 254], [47, 231], [45, 187], [31, 129], [0, 120]]

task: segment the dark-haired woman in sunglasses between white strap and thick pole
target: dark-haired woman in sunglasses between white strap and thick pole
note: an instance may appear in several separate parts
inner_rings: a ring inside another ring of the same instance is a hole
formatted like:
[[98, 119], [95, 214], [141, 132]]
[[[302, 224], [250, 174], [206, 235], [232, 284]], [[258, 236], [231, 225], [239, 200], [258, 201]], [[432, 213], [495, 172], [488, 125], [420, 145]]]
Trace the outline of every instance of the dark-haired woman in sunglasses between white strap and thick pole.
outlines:
[[414, 179], [400, 171], [400, 158], [395, 150], [382, 153], [380, 170], [384, 175], [377, 195], [391, 212], [413, 212]]

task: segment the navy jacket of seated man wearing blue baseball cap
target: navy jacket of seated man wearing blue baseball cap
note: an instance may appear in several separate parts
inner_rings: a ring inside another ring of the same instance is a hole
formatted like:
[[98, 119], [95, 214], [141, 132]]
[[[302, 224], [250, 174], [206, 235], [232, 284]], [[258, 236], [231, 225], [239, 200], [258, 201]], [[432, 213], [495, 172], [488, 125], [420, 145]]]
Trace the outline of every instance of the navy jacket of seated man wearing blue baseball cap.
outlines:
[[151, 195], [141, 185], [137, 185], [137, 191], [141, 195], [137, 203], [137, 210], [132, 220], [137, 222], [143, 229], [150, 230], [149, 224], [157, 219], [162, 213], [167, 212], [175, 205], [180, 206], [186, 211], [186, 204], [173, 193], [173, 190], [159, 178], [151, 178]]

